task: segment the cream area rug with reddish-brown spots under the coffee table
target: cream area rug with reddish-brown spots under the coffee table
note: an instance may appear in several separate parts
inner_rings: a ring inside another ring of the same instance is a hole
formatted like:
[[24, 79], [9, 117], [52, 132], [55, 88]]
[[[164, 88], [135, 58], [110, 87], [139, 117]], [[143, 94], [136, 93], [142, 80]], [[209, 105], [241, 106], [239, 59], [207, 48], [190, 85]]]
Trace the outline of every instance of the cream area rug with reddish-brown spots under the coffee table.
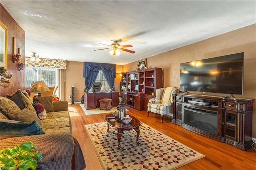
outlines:
[[124, 131], [118, 150], [116, 130], [107, 123], [85, 125], [104, 170], [173, 170], [204, 155], [141, 123], [140, 144], [135, 130]]

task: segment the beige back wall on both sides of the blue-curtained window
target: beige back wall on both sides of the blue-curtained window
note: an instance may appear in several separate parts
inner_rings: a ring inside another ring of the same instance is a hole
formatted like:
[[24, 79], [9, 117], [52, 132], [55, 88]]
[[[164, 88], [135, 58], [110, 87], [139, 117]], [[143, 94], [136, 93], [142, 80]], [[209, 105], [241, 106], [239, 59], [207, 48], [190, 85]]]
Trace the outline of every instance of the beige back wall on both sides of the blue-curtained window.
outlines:
[[[121, 77], [118, 73], [122, 72], [122, 65], [116, 65], [115, 91], [120, 91]], [[71, 103], [69, 96], [71, 95], [71, 87], [75, 86], [75, 102], [81, 102], [84, 94], [85, 78], [83, 77], [84, 62], [67, 61], [67, 69], [65, 71], [65, 95], [64, 100]]]

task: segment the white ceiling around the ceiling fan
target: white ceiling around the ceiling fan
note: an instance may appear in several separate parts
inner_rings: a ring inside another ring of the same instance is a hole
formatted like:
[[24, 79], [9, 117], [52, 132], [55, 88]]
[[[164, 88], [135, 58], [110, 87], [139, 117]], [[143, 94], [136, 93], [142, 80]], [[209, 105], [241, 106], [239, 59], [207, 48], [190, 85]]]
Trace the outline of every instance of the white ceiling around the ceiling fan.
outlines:
[[[256, 1], [1, 0], [26, 33], [26, 56], [124, 65], [256, 23]], [[130, 44], [115, 58], [110, 49]], [[86, 46], [84, 46], [86, 45]], [[91, 47], [88, 47], [91, 46]]]

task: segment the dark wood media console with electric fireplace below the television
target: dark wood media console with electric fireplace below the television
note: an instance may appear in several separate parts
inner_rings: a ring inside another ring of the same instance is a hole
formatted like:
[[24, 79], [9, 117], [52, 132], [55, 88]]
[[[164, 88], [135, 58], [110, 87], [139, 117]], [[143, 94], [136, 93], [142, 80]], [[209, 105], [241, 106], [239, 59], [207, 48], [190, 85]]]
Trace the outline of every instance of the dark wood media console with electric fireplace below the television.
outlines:
[[247, 150], [252, 141], [254, 99], [173, 93], [172, 123]]

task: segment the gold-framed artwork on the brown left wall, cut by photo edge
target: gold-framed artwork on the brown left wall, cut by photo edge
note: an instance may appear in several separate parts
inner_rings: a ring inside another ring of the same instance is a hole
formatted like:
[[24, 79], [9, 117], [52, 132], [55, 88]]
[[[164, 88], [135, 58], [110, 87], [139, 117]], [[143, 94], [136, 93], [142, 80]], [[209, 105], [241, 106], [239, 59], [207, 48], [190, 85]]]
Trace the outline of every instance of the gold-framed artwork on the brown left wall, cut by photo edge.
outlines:
[[0, 25], [0, 67], [7, 67], [7, 27]]

